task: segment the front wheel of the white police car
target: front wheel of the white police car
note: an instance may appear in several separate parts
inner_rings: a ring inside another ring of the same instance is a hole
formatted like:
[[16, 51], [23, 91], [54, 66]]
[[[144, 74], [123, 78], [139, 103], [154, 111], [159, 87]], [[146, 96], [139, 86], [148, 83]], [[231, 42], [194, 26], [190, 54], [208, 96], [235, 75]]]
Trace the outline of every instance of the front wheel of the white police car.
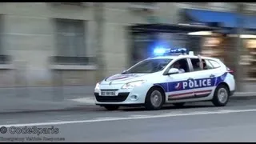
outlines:
[[161, 88], [155, 87], [146, 94], [146, 110], [160, 110], [165, 102], [165, 94]]

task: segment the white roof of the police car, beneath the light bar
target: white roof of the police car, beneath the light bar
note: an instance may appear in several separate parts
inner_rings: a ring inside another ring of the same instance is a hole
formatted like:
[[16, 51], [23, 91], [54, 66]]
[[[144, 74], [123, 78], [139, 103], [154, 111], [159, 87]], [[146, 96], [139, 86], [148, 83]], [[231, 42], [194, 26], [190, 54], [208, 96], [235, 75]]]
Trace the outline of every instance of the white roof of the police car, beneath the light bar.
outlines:
[[[147, 58], [147, 59], [178, 59], [178, 58], [198, 58], [198, 56], [196, 55], [189, 55], [189, 54], [184, 54], [184, 55], [164, 55], [164, 56], [156, 56], [156, 57], [152, 57], [152, 58]], [[201, 58], [203, 59], [211, 59], [211, 60], [215, 60], [218, 61], [218, 58], [211, 58], [211, 57], [205, 57], [201, 55]]]

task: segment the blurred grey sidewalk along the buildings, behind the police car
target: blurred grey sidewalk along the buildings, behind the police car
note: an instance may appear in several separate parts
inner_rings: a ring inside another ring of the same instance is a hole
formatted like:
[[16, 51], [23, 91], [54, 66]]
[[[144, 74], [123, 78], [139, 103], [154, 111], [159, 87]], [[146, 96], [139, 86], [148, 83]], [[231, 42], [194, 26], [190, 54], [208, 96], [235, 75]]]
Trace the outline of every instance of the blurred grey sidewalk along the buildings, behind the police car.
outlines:
[[[254, 88], [255, 87], [255, 88]], [[230, 99], [256, 98], [256, 85], [249, 92], [235, 93]], [[0, 89], [0, 113], [88, 110], [99, 108], [94, 105], [93, 86], [54, 88], [5, 88]], [[55, 91], [54, 91], [55, 90]]]

